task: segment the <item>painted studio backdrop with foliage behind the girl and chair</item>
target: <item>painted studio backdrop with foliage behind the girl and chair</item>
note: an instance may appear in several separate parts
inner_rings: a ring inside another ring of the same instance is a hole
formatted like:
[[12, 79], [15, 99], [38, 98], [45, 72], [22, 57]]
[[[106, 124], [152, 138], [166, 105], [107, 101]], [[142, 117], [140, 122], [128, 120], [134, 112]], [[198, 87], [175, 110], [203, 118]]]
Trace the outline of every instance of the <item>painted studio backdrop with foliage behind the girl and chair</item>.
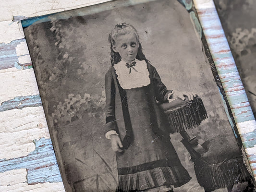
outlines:
[[[200, 143], [223, 134], [234, 139], [199, 38], [178, 1], [158, 0], [69, 19], [53, 15], [24, 33], [61, 172], [66, 173], [63, 181], [78, 191], [115, 189], [115, 155], [103, 130], [104, 76], [110, 67], [108, 34], [123, 22], [138, 30], [146, 58], [168, 89], [190, 90], [202, 98], [209, 118], [189, 133]], [[193, 179], [177, 192], [203, 192], [180, 140], [180, 135], [171, 135]]]

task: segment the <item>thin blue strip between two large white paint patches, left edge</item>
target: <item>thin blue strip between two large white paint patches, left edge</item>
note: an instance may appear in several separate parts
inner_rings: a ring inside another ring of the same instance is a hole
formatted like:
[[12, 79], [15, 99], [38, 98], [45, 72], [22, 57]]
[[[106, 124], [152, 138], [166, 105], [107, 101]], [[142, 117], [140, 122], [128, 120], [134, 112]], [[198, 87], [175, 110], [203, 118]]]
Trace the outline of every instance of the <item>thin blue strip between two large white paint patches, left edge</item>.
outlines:
[[42, 106], [42, 101], [39, 95], [35, 96], [17, 96], [14, 99], [4, 101], [0, 105], [0, 112], [12, 109], [22, 109], [27, 107]]

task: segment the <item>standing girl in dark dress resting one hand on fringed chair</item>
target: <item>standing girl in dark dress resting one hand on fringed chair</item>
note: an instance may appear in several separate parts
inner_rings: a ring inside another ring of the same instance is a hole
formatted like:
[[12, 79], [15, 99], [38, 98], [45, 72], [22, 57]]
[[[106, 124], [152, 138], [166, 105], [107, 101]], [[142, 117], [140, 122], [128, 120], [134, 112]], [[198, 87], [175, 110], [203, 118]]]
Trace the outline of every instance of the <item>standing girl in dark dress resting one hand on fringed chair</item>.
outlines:
[[118, 192], [172, 191], [191, 177], [161, 125], [158, 102], [192, 92], [169, 91], [146, 60], [131, 24], [117, 24], [109, 36], [111, 67], [105, 76], [106, 138], [117, 156]]

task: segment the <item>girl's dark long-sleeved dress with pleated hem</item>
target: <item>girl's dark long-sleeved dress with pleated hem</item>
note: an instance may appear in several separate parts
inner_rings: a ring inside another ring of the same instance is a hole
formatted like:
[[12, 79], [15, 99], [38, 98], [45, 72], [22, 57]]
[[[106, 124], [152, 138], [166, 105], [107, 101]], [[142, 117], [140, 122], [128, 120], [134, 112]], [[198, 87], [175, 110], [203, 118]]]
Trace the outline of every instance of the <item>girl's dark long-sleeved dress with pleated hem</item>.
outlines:
[[[117, 65], [125, 64], [122, 62]], [[148, 84], [124, 88], [120, 83], [125, 82], [113, 66], [105, 75], [106, 132], [116, 131], [123, 144], [122, 153], [116, 154], [117, 191], [143, 191], [162, 185], [179, 187], [191, 177], [164, 129], [156, 101], [167, 102], [171, 91], [166, 89], [151, 64], [137, 60], [136, 65], [146, 66]], [[135, 71], [132, 69], [132, 72]]]

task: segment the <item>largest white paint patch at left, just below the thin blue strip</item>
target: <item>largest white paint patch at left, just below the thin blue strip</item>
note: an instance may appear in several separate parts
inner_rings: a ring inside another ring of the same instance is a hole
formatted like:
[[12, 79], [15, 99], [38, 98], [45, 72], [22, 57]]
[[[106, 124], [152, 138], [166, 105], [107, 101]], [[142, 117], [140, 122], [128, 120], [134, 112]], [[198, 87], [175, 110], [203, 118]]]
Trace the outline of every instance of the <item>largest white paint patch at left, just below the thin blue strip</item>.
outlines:
[[0, 159], [27, 156], [43, 137], [50, 138], [43, 107], [0, 112]]

